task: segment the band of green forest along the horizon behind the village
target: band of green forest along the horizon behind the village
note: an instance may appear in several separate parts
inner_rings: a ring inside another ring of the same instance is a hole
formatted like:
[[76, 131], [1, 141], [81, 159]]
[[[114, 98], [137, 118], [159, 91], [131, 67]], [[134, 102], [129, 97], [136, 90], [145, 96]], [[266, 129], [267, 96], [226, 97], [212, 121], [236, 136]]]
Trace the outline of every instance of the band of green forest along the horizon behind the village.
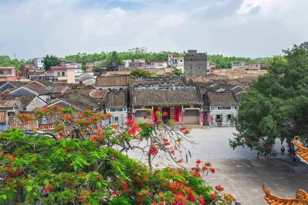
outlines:
[[[183, 56], [183, 53], [170, 52], [170, 51], [161, 51], [158, 53], [148, 52], [146, 48], [134, 48], [129, 49], [124, 52], [102, 52], [102, 53], [77, 53], [75, 55], [68, 55], [63, 57], [58, 57], [58, 59], [67, 59], [69, 61], [76, 61], [77, 63], [82, 63], [86, 65], [87, 62], [93, 61], [102, 61], [107, 60], [110, 62], [117, 62], [118, 64], [123, 64], [122, 60], [134, 60], [134, 59], [145, 59], [145, 61], [167, 61], [168, 53], [174, 53], [175, 57]], [[211, 65], [216, 65], [216, 68], [231, 68], [232, 61], [245, 61], [245, 64], [249, 62], [268, 62], [272, 57], [258, 57], [258, 58], [249, 58], [249, 57], [226, 57], [221, 54], [208, 55], [208, 61]], [[3, 55], [0, 56], [0, 66], [15, 66], [17, 70], [20, 70], [20, 66], [23, 63], [31, 62], [31, 59], [28, 61], [21, 59], [10, 59], [9, 56]]]

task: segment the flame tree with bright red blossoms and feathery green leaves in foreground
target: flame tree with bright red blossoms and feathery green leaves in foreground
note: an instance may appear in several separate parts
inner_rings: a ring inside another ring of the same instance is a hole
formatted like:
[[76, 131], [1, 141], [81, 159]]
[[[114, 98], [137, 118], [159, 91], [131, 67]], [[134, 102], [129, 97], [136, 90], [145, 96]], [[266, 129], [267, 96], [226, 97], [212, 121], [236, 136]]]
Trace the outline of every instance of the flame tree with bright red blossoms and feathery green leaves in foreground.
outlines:
[[[134, 148], [132, 142], [148, 140], [151, 142], [145, 155], [150, 160], [158, 152], [173, 158], [173, 152], [180, 152], [181, 140], [176, 141], [180, 136], [175, 135], [173, 140], [161, 134], [158, 127], [165, 125], [160, 120], [141, 124], [128, 121], [127, 128], [118, 130], [115, 124], [100, 124], [111, 117], [101, 112], [74, 112], [51, 106], [36, 110], [35, 114], [18, 115], [21, 126], [42, 118], [47, 118], [47, 123], [30, 132], [10, 128], [0, 133], [2, 204], [235, 203], [223, 187], [210, 187], [201, 179], [208, 171], [215, 172], [210, 163], [197, 160], [190, 171], [183, 167], [152, 169], [121, 153]], [[176, 129], [172, 122], [165, 127], [169, 130], [165, 133], [171, 136], [172, 129], [183, 137], [189, 132], [188, 128]], [[114, 149], [115, 145], [122, 149]], [[144, 152], [146, 147], [142, 148]]]

